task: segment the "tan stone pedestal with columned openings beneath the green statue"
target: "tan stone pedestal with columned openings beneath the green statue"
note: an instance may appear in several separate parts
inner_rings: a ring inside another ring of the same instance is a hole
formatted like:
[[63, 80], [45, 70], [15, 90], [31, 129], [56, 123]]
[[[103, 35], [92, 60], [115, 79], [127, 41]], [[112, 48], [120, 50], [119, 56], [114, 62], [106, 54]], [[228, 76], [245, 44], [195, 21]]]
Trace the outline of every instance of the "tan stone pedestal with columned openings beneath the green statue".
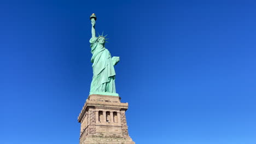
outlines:
[[121, 103], [120, 99], [112, 95], [89, 95], [78, 116], [80, 144], [135, 144], [126, 123], [128, 103]]

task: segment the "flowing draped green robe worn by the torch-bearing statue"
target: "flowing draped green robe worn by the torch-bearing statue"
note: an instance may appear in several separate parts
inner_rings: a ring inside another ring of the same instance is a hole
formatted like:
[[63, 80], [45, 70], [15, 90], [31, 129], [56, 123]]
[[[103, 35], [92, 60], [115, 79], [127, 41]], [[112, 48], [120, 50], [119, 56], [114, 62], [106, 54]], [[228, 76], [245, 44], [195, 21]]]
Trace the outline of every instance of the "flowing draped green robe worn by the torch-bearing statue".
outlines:
[[115, 70], [109, 51], [98, 44], [97, 37], [90, 39], [91, 62], [94, 76], [90, 92], [115, 92]]

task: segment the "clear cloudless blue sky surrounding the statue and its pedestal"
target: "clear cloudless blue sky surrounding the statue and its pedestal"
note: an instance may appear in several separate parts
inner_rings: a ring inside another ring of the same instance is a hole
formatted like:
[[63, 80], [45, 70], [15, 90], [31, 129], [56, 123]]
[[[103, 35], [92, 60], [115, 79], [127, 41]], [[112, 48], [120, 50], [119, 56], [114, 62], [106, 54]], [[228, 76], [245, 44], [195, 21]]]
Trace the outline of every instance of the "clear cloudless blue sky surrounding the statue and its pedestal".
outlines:
[[141, 144], [256, 143], [256, 2], [1, 1], [1, 144], [79, 143], [89, 16]]

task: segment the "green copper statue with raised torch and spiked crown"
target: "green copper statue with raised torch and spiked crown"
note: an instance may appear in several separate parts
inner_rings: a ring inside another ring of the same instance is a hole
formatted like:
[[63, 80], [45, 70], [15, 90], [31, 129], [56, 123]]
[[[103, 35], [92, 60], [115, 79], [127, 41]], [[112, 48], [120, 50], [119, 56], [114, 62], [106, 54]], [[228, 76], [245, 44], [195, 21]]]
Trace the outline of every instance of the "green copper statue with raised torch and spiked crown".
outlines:
[[[114, 65], [119, 62], [119, 57], [111, 57], [105, 48], [105, 37], [95, 34], [96, 16], [92, 14], [91, 20], [91, 62], [94, 76], [92, 77], [90, 94], [116, 93]], [[108, 94], [107, 94], [108, 95]], [[109, 94], [110, 95], [110, 94]], [[113, 95], [113, 94], [112, 94]]]

